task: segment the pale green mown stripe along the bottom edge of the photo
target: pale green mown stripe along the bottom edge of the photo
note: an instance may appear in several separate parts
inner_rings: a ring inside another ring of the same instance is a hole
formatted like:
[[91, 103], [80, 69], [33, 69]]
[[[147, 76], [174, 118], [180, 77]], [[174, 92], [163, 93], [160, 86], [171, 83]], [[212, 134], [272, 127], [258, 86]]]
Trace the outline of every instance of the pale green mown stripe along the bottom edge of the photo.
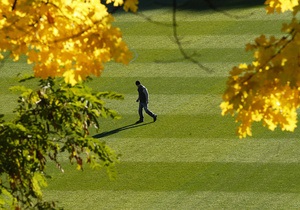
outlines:
[[49, 190], [45, 195], [48, 200], [60, 198], [60, 204], [68, 206], [66, 210], [298, 209], [300, 199], [296, 193], [222, 191]]

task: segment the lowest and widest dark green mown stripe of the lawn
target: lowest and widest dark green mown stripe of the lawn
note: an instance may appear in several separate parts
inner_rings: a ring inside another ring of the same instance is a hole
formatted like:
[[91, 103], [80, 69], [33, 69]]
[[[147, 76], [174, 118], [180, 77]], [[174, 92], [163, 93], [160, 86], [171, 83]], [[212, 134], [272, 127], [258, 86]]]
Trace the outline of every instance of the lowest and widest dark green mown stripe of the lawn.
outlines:
[[115, 181], [88, 168], [66, 170], [50, 180], [48, 190], [300, 193], [299, 163], [123, 162]]

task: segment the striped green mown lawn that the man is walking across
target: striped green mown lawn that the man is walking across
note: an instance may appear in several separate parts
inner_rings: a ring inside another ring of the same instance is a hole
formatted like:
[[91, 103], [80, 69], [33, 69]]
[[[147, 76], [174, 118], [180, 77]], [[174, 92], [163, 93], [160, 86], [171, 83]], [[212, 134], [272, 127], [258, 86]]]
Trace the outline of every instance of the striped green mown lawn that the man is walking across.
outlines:
[[[199, 53], [198, 60], [213, 73], [182, 59], [168, 26], [171, 8], [142, 7], [143, 14], [164, 24], [116, 15], [135, 57], [126, 67], [109, 63], [91, 86], [125, 96], [107, 103], [122, 119], [100, 119], [101, 130], [93, 133], [122, 154], [118, 178], [110, 181], [104, 170], [88, 167], [76, 171], [67, 161], [62, 174], [50, 164], [53, 179], [46, 199], [70, 210], [300, 208], [299, 128], [271, 132], [256, 124], [253, 137], [240, 140], [234, 119], [222, 117], [219, 108], [231, 67], [251, 62], [244, 45], [262, 33], [280, 35], [280, 25], [289, 17], [266, 16], [255, 5], [224, 9], [243, 18], [208, 8], [181, 9], [177, 16], [184, 48]], [[25, 62], [2, 63], [0, 113], [11, 116], [16, 95], [7, 88], [24, 71], [30, 72]], [[136, 80], [150, 92], [155, 123], [145, 116], [145, 123], [132, 125], [138, 120]]]

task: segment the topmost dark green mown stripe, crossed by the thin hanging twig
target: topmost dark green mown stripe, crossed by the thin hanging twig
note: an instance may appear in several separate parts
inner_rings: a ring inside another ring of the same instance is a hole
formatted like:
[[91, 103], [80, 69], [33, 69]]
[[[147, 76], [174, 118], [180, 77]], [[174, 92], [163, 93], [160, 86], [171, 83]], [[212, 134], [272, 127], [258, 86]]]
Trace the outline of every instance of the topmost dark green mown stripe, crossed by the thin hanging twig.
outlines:
[[[184, 19], [187, 20], [187, 19]], [[220, 20], [207, 21], [207, 19], [197, 21], [177, 21], [178, 34], [180, 36], [188, 35], [255, 35], [255, 34], [278, 34], [282, 23], [286, 20]], [[153, 24], [151, 22], [116, 22], [116, 25], [123, 29], [124, 36], [130, 35], [172, 35], [173, 28], [171, 19], [162, 21], [162, 24]], [[140, 30], [143, 29], [143, 30]]]

